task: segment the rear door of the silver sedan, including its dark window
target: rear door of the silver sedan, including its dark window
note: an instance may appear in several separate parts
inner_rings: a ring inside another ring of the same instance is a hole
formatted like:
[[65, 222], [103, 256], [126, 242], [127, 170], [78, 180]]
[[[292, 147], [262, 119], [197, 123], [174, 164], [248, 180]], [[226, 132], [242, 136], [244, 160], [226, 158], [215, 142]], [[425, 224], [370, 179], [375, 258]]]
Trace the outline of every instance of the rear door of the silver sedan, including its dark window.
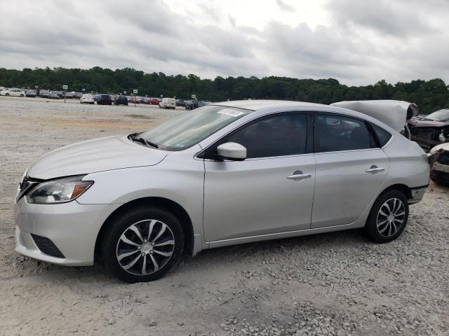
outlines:
[[389, 158], [363, 120], [333, 113], [314, 118], [314, 152], [311, 228], [353, 223], [381, 188]]

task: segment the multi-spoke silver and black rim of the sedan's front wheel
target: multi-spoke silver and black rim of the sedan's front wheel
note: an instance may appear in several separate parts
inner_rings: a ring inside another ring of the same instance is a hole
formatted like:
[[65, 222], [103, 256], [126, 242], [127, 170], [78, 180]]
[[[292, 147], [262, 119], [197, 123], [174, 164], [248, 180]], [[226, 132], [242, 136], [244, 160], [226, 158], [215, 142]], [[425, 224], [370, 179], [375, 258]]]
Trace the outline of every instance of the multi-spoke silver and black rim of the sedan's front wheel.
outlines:
[[175, 237], [165, 223], [156, 219], [130, 225], [116, 245], [121, 268], [134, 275], [148, 275], [163, 268], [175, 249]]

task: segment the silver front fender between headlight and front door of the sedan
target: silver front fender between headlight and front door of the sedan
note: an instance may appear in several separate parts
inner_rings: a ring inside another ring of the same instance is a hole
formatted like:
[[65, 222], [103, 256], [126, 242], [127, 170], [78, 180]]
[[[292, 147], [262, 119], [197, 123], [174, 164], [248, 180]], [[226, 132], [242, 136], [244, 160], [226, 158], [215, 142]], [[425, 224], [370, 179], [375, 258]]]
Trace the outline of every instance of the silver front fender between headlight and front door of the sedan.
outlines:
[[161, 197], [180, 205], [192, 220], [195, 235], [203, 236], [202, 160], [168, 155], [151, 167], [115, 169], [88, 174], [93, 186], [81, 195], [80, 204], [126, 204], [145, 197]]

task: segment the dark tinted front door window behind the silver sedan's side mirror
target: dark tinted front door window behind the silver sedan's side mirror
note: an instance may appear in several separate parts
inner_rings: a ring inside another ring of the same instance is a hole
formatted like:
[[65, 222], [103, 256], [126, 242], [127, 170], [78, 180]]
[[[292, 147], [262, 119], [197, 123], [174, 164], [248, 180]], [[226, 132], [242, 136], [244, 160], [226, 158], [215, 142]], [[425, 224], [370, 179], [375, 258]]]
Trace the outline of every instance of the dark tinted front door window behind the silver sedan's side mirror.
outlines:
[[306, 139], [307, 115], [281, 114], [243, 127], [224, 142], [245, 146], [247, 158], [268, 158], [304, 154]]

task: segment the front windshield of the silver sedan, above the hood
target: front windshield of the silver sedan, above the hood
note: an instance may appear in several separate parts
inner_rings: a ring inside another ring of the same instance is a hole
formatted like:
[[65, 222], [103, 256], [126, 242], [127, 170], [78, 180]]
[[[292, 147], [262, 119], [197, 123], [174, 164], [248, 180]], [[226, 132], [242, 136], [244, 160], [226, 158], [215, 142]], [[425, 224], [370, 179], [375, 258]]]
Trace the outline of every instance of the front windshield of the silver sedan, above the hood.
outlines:
[[171, 120], [140, 134], [140, 138], [166, 151], [182, 151], [198, 144], [235, 120], [252, 111], [224, 106], [203, 106], [182, 113]]

